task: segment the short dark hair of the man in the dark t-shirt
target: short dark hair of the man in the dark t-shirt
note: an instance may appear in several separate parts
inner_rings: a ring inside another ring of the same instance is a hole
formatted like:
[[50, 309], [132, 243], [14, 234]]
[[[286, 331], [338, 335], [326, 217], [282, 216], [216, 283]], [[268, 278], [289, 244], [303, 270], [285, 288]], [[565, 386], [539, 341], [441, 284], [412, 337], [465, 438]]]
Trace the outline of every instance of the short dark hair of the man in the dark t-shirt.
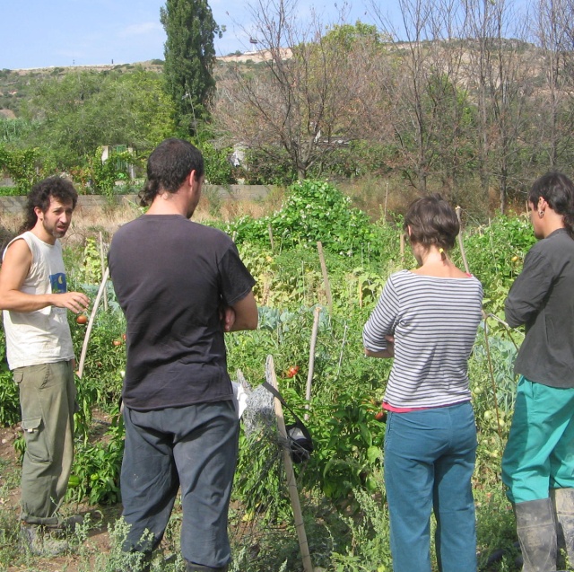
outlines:
[[151, 205], [161, 192], [177, 192], [192, 171], [196, 172], [196, 180], [204, 175], [199, 149], [176, 137], [162, 141], [147, 160], [147, 180], [139, 194], [141, 206]]

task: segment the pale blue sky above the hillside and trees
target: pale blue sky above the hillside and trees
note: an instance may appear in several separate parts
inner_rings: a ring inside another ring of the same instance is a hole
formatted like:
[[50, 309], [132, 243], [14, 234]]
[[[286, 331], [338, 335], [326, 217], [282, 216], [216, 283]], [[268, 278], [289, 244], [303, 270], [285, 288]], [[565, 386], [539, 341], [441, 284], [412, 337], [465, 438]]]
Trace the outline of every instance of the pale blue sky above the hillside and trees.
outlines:
[[[212, 0], [215, 22], [227, 29], [216, 40], [217, 55], [249, 44], [249, 0]], [[344, 0], [339, 0], [339, 7]], [[0, 69], [131, 64], [163, 59], [165, 0], [0, 0]], [[319, 0], [317, 13], [336, 20], [336, 0]], [[300, 0], [300, 13], [309, 0]], [[349, 22], [369, 22], [365, 8], [350, 10]]]

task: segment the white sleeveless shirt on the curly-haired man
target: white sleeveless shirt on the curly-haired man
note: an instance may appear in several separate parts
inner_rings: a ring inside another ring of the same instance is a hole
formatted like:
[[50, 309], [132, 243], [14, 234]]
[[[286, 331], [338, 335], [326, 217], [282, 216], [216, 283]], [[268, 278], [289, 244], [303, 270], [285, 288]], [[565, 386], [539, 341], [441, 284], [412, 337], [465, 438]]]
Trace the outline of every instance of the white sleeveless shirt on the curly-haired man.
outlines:
[[[30, 272], [22, 292], [34, 295], [67, 292], [60, 242], [48, 244], [30, 232], [17, 236], [12, 242], [17, 240], [24, 240], [32, 253]], [[6, 357], [10, 369], [74, 358], [66, 312], [65, 308], [55, 306], [35, 312], [4, 310]]]

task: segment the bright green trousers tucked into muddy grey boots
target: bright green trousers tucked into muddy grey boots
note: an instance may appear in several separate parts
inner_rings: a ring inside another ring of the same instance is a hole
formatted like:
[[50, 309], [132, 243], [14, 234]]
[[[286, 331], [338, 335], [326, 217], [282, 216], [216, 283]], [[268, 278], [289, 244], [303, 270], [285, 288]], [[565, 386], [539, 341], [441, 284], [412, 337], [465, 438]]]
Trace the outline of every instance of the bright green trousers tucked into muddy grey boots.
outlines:
[[574, 488], [574, 389], [549, 387], [521, 376], [502, 480], [512, 503]]

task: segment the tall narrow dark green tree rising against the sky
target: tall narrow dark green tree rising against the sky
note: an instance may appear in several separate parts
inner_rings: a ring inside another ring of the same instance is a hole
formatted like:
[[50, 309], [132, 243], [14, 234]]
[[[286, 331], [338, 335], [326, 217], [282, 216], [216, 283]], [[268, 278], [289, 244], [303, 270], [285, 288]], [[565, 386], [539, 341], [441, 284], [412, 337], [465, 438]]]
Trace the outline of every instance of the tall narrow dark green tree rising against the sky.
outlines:
[[166, 89], [176, 107], [176, 120], [186, 135], [196, 135], [208, 118], [207, 106], [215, 91], [213, 38], [222, 30], [213, 20], [207, 0], [167, 0], [161, 8], [165, 42]]

